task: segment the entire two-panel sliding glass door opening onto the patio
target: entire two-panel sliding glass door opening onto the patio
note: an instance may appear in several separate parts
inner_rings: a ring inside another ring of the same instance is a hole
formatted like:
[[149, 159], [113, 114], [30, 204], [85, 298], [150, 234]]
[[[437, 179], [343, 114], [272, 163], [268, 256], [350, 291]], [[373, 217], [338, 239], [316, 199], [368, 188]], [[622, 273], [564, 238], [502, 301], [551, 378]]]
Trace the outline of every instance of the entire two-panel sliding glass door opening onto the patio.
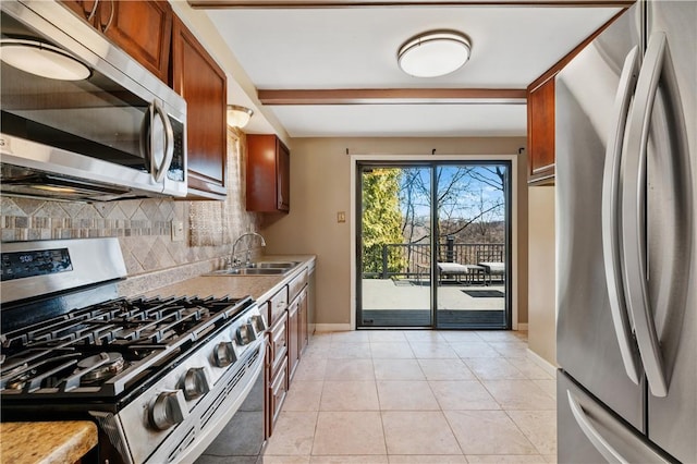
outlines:
[[357, 172], [357, 326], [510, 328], [510, 164]]

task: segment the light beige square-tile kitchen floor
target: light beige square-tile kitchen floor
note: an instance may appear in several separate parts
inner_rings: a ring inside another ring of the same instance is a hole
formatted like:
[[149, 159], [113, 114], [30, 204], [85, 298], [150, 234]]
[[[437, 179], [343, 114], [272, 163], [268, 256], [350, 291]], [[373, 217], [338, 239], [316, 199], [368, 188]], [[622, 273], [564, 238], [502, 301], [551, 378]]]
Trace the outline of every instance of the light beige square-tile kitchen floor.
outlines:
[[554, 378], [527, 333], [317, 333], [264, 463], [553, 463]]

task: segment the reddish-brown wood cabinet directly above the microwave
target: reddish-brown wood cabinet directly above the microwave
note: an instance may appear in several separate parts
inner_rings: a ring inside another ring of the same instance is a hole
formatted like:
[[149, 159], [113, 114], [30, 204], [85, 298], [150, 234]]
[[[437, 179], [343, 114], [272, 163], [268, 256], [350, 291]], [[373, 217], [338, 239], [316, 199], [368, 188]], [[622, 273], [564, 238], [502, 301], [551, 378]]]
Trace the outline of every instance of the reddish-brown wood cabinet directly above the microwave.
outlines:
[[63, 0], [63, 4], [168, 82], [172, 7], [161, 0]]

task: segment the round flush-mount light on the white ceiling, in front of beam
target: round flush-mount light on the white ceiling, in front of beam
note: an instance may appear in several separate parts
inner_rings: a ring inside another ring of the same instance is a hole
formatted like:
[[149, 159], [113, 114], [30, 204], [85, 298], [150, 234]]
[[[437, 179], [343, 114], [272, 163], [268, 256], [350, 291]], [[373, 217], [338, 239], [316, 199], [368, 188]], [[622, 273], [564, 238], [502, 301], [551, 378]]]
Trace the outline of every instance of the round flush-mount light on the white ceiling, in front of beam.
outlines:
[[398, 52], [402, 71], [415, 77], [438, 77], [469, 59], [469, 39], [456, 30], [431, 30], [407, 40]]

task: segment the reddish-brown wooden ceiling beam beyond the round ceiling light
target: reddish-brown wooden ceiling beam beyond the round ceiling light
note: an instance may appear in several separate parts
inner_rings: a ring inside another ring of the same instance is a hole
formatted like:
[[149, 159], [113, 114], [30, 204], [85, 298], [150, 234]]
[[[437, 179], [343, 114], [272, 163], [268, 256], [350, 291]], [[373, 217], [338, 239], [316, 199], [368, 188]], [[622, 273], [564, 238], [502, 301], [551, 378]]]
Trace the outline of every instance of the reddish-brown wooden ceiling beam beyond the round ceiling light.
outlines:
[[511, 105], [525, 103], [521, 88], [343, 88], [257, 90], [264, 105]]

